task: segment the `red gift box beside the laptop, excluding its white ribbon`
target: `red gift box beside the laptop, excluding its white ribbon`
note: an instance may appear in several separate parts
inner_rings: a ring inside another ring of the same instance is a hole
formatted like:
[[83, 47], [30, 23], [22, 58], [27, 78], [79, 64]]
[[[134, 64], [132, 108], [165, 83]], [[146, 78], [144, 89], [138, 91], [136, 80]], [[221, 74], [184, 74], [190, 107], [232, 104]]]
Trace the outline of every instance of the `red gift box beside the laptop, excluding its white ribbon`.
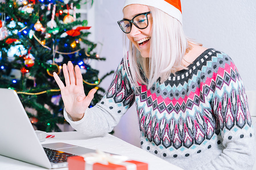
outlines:
[[[104, 165], [101, 163], [94, 163], [91, 165], [92, 167], [90, 169], [86, 169], [86, 162], [84, 161], [84, 157], [82, 156], [71, 156], [67, 159], [69, 170], [128, 170], [126, 166], [123, 165], [117, 165], [108, 163], [108, 165]], [[124, 164], [135, 164], [136, 168], [131, 168], [132, 170], [147, 170], [148, 164], [144, 162], [138, 162], [138, 161], [124, 161]], [[121, 163], [121, 164], [123, 164]]]

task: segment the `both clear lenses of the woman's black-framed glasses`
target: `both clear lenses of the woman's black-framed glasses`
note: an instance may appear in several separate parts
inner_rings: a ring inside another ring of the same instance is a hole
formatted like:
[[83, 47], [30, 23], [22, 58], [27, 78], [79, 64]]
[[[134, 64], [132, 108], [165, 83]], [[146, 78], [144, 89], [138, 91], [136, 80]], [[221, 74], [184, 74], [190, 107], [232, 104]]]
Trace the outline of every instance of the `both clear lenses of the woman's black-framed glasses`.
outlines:
[[[141, 29], [146, 28], [148, 26], [147, 17], [145, 15], [136, 16], [135, 18], [133, 18], [132, 21], [138, 28]], [[124, 32], [129, 33], [131, 31], [131, 22], [121, 21], [119, 24]]]

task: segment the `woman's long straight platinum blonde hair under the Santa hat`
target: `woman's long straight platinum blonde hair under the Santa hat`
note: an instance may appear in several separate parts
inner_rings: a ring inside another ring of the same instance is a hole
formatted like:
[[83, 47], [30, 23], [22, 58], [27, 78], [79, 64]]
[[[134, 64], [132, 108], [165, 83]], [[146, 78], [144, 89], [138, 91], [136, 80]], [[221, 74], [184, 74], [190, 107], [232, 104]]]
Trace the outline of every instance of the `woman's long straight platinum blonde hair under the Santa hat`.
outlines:
[[[162, 83], [171, 73], [175, 75], [179, 67], [187, 69], [181, 65], [181, 61], [192, 48], [188, 42], [193, 42], [185, 36], [182, 25], [177, 19], [158, 8], [150, 6], [148, 8], [153, 21], [150, 34], [150, 57], [143, 58], [131, 41], [129, 41], [127, 52], [127, 37], [124, 35], [124, 65], [136, 92], [139, 84], [145, 84], [149, 89], [156, 85], [159, 77]], [[195, 42], [193, 44], [202, 45]]]

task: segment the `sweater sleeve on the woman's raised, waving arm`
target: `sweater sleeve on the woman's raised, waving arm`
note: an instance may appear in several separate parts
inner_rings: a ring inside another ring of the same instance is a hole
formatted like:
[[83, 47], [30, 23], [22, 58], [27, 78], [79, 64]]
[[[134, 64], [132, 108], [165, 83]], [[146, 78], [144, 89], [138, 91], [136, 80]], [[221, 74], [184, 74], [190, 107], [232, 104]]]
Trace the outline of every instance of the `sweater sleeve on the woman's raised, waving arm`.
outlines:
[[134, 101], [135, 95], [122, 60], [110, 87], [99, 103], [92, 108], [87, 108], [84, 117], [79, 121], [73, 121], [66, 109], [64, 109], [64, 117], [80, 133], [90, 137], [103, 136], [112, 131]]

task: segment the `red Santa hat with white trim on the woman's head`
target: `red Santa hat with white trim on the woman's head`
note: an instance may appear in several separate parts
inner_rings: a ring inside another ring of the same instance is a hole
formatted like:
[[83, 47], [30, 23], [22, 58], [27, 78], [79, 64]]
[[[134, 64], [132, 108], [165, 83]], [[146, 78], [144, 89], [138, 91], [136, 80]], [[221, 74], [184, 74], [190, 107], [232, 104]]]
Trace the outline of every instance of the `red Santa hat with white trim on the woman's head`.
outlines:
[[123, 8], [131, 4], [141, 4], [158, 8], [173, 18], [176, 18], [182, 25], [180, 0], [125, 0]]

